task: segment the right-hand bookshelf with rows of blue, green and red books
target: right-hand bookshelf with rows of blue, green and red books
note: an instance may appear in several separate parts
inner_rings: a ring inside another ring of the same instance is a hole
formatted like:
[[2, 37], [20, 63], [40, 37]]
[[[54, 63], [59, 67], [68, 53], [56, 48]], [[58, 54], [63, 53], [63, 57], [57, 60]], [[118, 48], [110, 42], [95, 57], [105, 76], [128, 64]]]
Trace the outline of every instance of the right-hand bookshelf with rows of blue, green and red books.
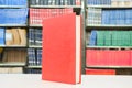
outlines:
[[[132, 1], [131, 0], [122, 0], [122, 1], [120, 0], [119, 1], [118, 0], [86, 0], [85, 2], [86, 2], [85, 4], [86, 68], [100, 69], [100, 70], [112, 69], [112, 70], [116, 70], [117, 75], [132, 75], [132, 70], [131, 70], [132, 69], [132, 62], [131, 62], [132, 45], [131, 45], [131, 40], [128, 40], [128, 38], [131, 38], [131, 31], [132, 31], [131, 30], [132, 22], [129, 21], [131, 20], [129, 18], [129, 14], [130, 14], [129, 12], [131, 12], [131, 9], [132, 9], [131, 7]], [[108, 12], [108, 15], [105, 14], [105, 11]], [[118, 19], [116, 19], [114, 16]], [[107, 20], [106, 18], [109, 18], [109, 19]], [[97, 33], [96, 32], [94, 33], [94, 31], [96, 31]], [[98, 32], [105, 32], [105, 33], [98, 34]], [[110, 32], [110, 35], [107, 32]], [[120, 32], [120, 33], [114, 37], [114, 33], [112, 32]], [[128, 34], [123, 34], [124, 32]], [[128, 38], [124, 38], [125, 36]], [[119, 42], [119, 40], [122, 42]], [[113, 44], [116, 41], [119, 43]], [[102, 42], [103, 44], [101, 45]], [[124, 43], [128, 42], [128, 44], [125, 45], [123, 44], [123, 42]], [[112, 53], [114, 52], [116, 54], [112, 55], [110, 52]], [[123, 53], [119, 54], [118, 52], [119, 53], [123, 52]], [[124, 55], [124, 53], [128, 55]], [[106, 62], [103, 61], [103, 58]], [[127, 65], [127, 62], [125, 64], [123, 62], [125, 59], [128, 59], [127, 61], [128, 65]], [[120, 64], [118, 63], [113, 64], [111, 63], [112, 61], [119, 62]], [[103, 62], [105, 64], [101, 62]]]

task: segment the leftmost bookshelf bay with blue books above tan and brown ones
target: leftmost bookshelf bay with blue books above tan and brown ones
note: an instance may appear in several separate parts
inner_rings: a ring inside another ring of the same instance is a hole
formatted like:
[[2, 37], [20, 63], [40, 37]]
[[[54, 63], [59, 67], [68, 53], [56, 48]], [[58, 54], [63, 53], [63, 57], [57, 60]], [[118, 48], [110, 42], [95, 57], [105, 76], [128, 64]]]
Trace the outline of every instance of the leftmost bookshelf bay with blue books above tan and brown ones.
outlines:
[[1, 0], [0, 15], [0, 73], [22, 74], [26, 65], [28, 1]]

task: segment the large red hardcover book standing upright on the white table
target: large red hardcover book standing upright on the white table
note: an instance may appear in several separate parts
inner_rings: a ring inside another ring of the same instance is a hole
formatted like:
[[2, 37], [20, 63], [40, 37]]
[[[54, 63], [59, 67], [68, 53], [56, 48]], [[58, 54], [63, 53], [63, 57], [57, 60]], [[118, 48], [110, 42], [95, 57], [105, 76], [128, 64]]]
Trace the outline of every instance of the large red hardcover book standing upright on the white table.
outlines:
[[75, 13], [43, 22], [42, 79], [80, 82], [80, 15]]

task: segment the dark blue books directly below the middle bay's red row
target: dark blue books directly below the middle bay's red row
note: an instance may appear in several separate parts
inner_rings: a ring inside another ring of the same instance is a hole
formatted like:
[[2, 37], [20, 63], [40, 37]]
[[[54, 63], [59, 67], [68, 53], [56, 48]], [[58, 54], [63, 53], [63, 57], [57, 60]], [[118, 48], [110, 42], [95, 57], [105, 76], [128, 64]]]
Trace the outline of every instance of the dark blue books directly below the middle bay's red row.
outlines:
[[29, 29], [29, 45], [42, 45], [42, 29]]

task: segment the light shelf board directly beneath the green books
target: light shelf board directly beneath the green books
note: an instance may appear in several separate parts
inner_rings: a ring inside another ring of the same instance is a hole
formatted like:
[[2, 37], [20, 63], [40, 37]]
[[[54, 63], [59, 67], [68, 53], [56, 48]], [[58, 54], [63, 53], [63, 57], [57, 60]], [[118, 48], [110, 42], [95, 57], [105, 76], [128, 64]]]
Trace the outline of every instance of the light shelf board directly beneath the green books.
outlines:
[[86, 46], [87, 48], [132, 48], [132, 46]]

